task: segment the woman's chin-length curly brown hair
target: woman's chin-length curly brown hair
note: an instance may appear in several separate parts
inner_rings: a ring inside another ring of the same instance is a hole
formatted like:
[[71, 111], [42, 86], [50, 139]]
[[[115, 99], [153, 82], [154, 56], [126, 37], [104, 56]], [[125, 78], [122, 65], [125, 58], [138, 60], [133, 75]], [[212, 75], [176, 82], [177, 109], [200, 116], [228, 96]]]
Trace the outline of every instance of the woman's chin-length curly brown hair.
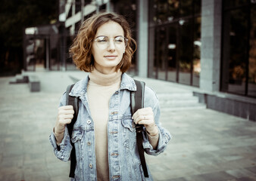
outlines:
[[126, 72], [130, 68], [133, 54], [136, 51], [136, 41], [132, 38], [129, 23], [119, 14], [101, 12], [92, 15], [92, 17], [89, 17], [82, 23], [70, 47], [70, 56], [73, 57], [73, 62], [78, 69], [85, 72], [92, 72], [94, 65], [92, 42], [98, 27], [109, 21], [120, 24], [123, 28], [124, 37], [128, 39], [125, 53], [123, 54], [122, 60], [117, 65], [116, 71], [120, 69], [121, 72]]

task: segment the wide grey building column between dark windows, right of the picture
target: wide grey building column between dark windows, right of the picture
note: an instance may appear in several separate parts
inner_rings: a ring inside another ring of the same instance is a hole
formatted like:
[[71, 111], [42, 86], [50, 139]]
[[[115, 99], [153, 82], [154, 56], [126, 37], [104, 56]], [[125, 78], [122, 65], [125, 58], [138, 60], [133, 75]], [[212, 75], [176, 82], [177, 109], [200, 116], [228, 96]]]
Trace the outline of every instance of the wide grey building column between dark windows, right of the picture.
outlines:
[[201, 1], [200, 88], [220, 90], [221, 0]]

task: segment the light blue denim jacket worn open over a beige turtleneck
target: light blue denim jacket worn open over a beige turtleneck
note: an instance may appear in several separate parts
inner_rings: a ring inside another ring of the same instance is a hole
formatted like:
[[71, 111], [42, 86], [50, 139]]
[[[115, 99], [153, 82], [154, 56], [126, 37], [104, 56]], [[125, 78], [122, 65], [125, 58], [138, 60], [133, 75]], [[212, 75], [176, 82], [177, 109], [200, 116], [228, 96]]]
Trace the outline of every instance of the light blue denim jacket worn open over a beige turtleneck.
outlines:
[[[64, 139], [58, 151], [54, 134], [52, 133], [50, 136], [55, 155], [61, 161], [69, 160], [72, 149], [70, 140], [74, 143], [76, 170], [75, 179], [71, 180], [97, 180], [94, 125], [86, 94], [88, 81], [89, 77], [87, 76], [86, 79], [78, 81], [70, 91], [71, 96], [80, 97], [79, 115], [73, 126], [71, 139], [66, 127]], [[123, 73], [120, 89], [113, 94], [109, 103], [108, 163], [110, 180], [152, 180], [149, 170], [149, 177], [144, 177], [139, 159], [136, 145], [136, 128], [130, 109], [131, 90], [136, 90], [136, 84], [133, 78]], [[159, 141], [158, 148], [153, 149], [144, 130], [143, 147], [148, 155], [158, 155], [164, 152], [171, 136], [167, 130], [161, 127], [158, 99], [155, 92], [149, 87], [145, 87], [144, 104], [145, 107], [153, 109], [155, 124], [157, 124], [159, 130]], [[64, 105], [66, 105], [66, 94], [63, 95], [60, 103], [60, 106]]]

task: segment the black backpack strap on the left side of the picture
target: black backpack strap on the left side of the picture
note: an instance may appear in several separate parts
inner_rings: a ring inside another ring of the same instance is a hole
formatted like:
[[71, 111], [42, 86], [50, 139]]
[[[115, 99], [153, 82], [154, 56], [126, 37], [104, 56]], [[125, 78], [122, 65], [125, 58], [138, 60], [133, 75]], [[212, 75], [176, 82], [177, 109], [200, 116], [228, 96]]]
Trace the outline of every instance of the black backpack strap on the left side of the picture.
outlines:
[[[78, 115], [78, 98], [77, 97], [71, 97], [69, 95], [70, 91], [72, 90], [73, 88], [73, 85], [74, 84], [71, 84], [69, 86], [67, 86], [67, 91], [66, 91], [66, 100], [67, 100], [67, 103], [66, 105], [72, 105], [73, 106], [73, 110], [74, 110], [74, 114], [73, 114], [73, 119], [72, 121], [70, 122], [70, 124], [67, 124], [67, 130], [68, 130], [68, 133], [70, 134], [70, 139], [72, 137], [72, 132], [73, 132], [73, 124], [75, 124], [76, 122], [76, 118], [77, 118], [77, 115]], [[75, 170], [76, 170], [76, 150], [75, 150], [75, 146], [73, 145], [72, 142], [71, 143], [71, 146], [72, 146], [72, 150], [71, 150], [71, 153], [70, 153], [70, 177], [74, 178], [75, 176]]]

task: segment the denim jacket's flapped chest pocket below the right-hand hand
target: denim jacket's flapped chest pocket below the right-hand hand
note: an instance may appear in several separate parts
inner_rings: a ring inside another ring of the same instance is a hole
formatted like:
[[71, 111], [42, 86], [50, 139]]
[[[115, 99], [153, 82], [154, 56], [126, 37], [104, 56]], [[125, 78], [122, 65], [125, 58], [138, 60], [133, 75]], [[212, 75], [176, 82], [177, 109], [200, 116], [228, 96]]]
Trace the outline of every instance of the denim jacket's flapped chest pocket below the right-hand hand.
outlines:
[[136, 128], [132, 118], [124, 117], [123, 125], [123, 146], [126, 149], [133, 149], [136, 144]]

